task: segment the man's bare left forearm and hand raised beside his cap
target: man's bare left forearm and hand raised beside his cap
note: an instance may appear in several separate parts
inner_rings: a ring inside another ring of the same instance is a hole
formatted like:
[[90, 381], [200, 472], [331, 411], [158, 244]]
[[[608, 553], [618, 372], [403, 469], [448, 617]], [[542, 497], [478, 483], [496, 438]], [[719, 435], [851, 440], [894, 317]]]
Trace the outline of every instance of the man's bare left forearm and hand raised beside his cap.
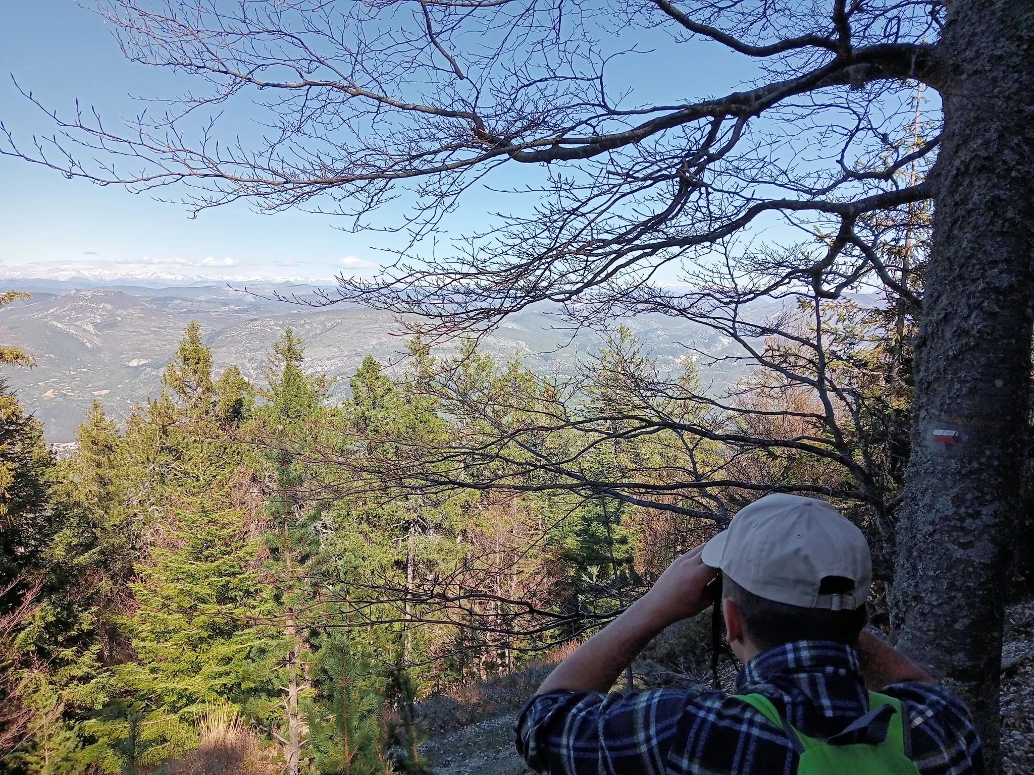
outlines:
[[655, 636], [707, 608], [711, 599], [704, 588], [719, 571], [700, 561], [702, 550], [699, 546], [672, 562], [649, 592], [560, 662], [537, 693], [609, 691]]

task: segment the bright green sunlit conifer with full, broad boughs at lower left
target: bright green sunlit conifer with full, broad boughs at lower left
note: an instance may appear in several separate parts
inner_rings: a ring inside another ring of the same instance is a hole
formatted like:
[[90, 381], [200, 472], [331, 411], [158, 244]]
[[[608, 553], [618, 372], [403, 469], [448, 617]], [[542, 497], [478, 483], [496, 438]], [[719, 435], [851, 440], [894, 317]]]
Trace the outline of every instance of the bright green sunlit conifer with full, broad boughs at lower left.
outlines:
[[164, 546], [150, 549], [129, 584], [139, 608], [120, 624], [135, 659], [114, 672], [147, 713], [150, 764], [189, 745], [193, 722], [210, 706], [230, 700], [261, 707], [276, 692], [272, 678], [255, 670], [263, 638], [249, 622], [261, 613], [260, 546], [246, 513], [206, 502], [230, 500], [220, 478], [209, 479], [209, 496], [178, 504]]

